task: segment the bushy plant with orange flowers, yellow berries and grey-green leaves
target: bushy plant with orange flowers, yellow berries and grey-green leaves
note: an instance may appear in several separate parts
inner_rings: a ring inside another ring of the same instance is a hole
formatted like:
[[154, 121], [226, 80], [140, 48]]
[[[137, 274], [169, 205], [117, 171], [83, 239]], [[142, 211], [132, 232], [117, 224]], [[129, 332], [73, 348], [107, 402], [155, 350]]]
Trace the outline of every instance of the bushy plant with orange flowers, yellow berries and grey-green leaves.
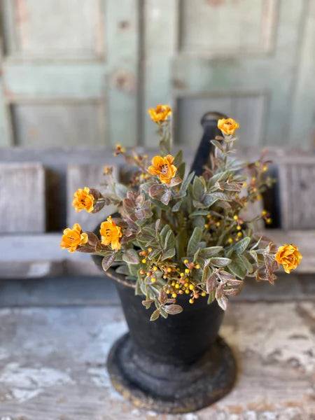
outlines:
[[149, 160], [118, 145], [114, 155], [124, 155], [135, 167], [129, 183], [118, 183], [106, 167], [102, 191], [85, 186], [73, 195], [76, 211], [92, 214], [111, 204], [118, 217], [106, 218], [99, 235], [76, 223], [64, 230], [62, 248], [101, 255], [105, 271], [125, 274], [144, 306], [155, 305], [151, 320], [181, 312], [181, 295], [190, 304], [207, 298], [226, 309], [246, 276], [274, 283], [280, 266], [287, 273], [295, 269], [302, 258], [296, 246], [278, 247], [255, 232], [253, 222], [271, 221], [267, 211], [246, 218], [248, 206], [261, 199], [272, 179], [263, 157], [249, 164], [232, 158], [238, 123], [218, 121], [223, 136], [211, 140], [211, 165], [195, 176], [186, 171], [181, 151], [172, 155], [172, 110], [158, 105], [149, 114], [158, 127], [160, 154]]

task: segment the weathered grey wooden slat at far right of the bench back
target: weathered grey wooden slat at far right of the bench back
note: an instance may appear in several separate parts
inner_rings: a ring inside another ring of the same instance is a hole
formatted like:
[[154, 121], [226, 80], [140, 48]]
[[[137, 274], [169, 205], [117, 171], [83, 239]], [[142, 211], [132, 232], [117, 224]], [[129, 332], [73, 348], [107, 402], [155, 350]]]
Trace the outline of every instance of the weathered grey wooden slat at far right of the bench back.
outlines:
[[285, 230], [315, 228], [315, 159], [279, 165], [281, 227]]

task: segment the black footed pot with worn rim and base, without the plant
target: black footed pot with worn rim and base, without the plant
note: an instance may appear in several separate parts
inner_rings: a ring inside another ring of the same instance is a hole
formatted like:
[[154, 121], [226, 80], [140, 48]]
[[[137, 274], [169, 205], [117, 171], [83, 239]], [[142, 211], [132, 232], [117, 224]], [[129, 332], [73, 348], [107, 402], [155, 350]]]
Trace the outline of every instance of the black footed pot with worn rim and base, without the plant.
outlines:
[[192, 412], [228, 393], [235, 382], [235, 359], [218, 337], [223, 311], [200, 297], [177, 302], [183, 312], [150, 321], [141, 296], [124, 276], [109, 269], [129, 332], [113, 345], [107, 367], [113, 386], [138, 407], [158, 412]]

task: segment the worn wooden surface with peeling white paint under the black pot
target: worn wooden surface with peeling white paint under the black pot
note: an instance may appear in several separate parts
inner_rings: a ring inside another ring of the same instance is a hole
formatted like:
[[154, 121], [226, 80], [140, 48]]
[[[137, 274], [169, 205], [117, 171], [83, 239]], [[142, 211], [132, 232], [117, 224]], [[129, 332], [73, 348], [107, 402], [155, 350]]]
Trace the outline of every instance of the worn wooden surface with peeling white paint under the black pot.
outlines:
[[314, 311], [310, 301], [231, 304], [221, 335], [237, 358], [235, 388], [197, 413], [168, 416], [137, 409], [111, 387], [106, 355], [127, 329], [120, 307], [0, 309], [0, 416], [314, 419]]

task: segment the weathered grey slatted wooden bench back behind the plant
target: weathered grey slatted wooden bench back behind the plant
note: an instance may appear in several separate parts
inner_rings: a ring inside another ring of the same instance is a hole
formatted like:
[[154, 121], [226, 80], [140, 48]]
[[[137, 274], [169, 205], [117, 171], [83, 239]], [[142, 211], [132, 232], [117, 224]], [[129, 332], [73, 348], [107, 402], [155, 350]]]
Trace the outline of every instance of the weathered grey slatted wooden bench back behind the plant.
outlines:
[[[155, 151], [148, 151], [154, 155]], [[258, 158], [257, 149], [240, 149], [241, 158]], [[193, 153], [184, 150], [188, 166]], [[265, 205], [276, 216], [276, 229], [266, 235], [278, 243], [293, 242], [303, 255], [296, 273], [315, 272], [315, 154], [314, 151], [273, 149], [272, 176], [278, 179]], [[27, 163], [26, 163], [27, 162]], [[0, 278], [34, 278], [76, 274], [102, 275], [89, 255], [59, 248], [62, 229], [80, 223], [92, 230], [106, 214], [76, 213], [73, 192], [102, 181], [104, 165], [116, 165], [120, 178], [122, 157], [108, 148], [3, 149], [0, 158]], [[113, 208], [108, 209], [110, 214]], [[279, 217], [278, 217], [279, 215]]]

